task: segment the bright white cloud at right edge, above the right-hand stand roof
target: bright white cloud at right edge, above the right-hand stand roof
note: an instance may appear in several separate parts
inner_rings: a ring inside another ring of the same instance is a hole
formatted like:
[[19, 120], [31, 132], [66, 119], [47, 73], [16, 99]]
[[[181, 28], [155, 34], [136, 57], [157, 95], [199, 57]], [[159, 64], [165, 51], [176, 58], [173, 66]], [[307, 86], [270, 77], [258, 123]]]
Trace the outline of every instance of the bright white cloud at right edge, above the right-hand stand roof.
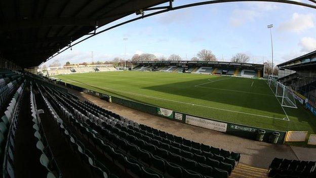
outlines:
[[292, 32], [303, 32], [306, 29], [314, 27], [314, 15], [294, 13], [292, 18], [286, 22], [283, 22], [279, 26], [279, 30], [292, 31]]

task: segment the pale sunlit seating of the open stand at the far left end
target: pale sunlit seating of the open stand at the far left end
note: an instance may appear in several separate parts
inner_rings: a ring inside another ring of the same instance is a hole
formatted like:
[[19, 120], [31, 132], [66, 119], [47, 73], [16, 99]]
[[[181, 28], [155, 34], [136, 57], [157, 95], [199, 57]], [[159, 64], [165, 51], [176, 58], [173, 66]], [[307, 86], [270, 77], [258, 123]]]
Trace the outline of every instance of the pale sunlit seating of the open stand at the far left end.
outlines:
[[71, 67], [71, 68], [50, 68], [47, 70], [49, 76], [55, 75], [66, 75], [66, 74], [76, 74], [76, 73], [93, 73], [93, 72], [108, 72], [116, 71], [117, 69], [113, 66], [97, 66], [97, 67]]

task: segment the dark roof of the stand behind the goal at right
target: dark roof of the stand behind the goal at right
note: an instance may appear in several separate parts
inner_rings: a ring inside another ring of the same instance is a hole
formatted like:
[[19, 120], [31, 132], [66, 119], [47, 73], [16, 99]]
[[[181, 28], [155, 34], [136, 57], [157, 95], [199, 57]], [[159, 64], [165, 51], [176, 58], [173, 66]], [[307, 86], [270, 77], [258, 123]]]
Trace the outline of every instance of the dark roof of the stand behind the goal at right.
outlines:
[[307, 68], [307, 67], [314, 67], [316, 65], [316, 51], [307, 53], [305, 55], [296, 57], [289, 61], [283, 62], [277, 65], [280, 68], [287, 68], [287, 69], [298, 69], [298, 68]]

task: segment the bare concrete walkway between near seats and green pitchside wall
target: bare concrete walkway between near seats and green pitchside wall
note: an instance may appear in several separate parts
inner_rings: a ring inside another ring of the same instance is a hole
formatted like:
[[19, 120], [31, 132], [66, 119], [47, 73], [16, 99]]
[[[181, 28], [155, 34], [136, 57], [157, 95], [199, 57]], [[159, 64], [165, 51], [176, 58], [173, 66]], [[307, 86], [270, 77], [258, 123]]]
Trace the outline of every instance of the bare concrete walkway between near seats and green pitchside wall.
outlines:
[[[145, 124], [206, 145], [223, 148], [228, 151], [239, 152], [242, 154], [240, 162], [246, 166], [249, 165], [255, 168], [267, 169], [274, 157], [316, 161], [316, 149], [314, 148], [272, 145], [241, 138], [214, 130], [195, 127], [158, 116], [153, 116], [119, 104], [106, 102], [100, 98], [83, 92], [78, 92], [69, 88], [67, 89], [84, 100], [89, 100], [90, 102], [93, 102], [106, 110], [117, 113], [138, 123]], [[231, 176], [240, 177], [233, 175]]]

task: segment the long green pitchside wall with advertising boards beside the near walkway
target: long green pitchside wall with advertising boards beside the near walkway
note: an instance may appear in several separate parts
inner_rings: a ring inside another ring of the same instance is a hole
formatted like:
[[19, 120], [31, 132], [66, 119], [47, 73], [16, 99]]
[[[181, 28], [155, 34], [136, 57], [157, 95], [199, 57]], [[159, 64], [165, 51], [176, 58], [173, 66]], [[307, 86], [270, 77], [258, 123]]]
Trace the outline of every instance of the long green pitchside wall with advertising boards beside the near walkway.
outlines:
[[265, 134], [263, 135], [262, 141], [265, 141], [268, 143], [273, 142], [273, 134], [272, 134], [273, 132], [280, 133], [279, 139], [278, 140], [274, 139], [274, 141], [276, 141], [277, 144], [283, 144], [285, 136], [286, 136], [286, 131], [270, 130], [270, 129], [247, 126], [247, 125], [242, 125], [242, 124], [223, 122], [223, 121], [218, 121], [215, 119], [196, 117], [196, 116], [192, 116], [192, 115], [189, 115], [186, 113], [172, 111], [172, 110], [168, 110], [165, 108], [159, 108], [159, 107], [154, 106], [154, 105], [144, 104], [144, 103], [140, 103], [140, 102], [136, 102], [136, 101], [132, 101], [132, 100], [128, 100], [128, 99], [123, 99], [123, 98], [116, 97], [116, 96], [110, 96], [107, 94], [95, 92], [93, 90], [84, 89], [84, 88], [81, 88], [78, 86], [67, 84], [64, 82], [58, 82], [58, 84], [63, 85], [63, 86], [67, 86], [68, 88], [72, 88], [72, 89], [75, 89], [77, 91], [91, 94], [93, 96], [97, 96], [97, 97], [104, 99], [106, 101], [111, 99], [111, 102], [114, 102], [114, 103], [117, 103], [120, 105], [124, 105], [124, 106], [127, 106], [129, 108], [132, 108], [132, 109], [135, 109], [138, 111], [142, 111], [145, 113], [149, 113], [149, 114], [152, 114], [155, 116], [164, 117], [164, 118], [167, 118], [167, 119], [170, 119], [173, 121], [182, 122], [182, 123], [186, 123], [189, 125], [194, 125], [194, 126], [198, 126], [198, 127], [212, 129], [212, 130], [216, 130], [216, 131], [220, 131], [220, 132], [225, 132], [225, 133], [228, 133], [231, 135], [240, 136], [240, 137], [244, 137], [244, 138], [248, 138], [248, 139], [257, 139], [258, 130], [265, 131]]

